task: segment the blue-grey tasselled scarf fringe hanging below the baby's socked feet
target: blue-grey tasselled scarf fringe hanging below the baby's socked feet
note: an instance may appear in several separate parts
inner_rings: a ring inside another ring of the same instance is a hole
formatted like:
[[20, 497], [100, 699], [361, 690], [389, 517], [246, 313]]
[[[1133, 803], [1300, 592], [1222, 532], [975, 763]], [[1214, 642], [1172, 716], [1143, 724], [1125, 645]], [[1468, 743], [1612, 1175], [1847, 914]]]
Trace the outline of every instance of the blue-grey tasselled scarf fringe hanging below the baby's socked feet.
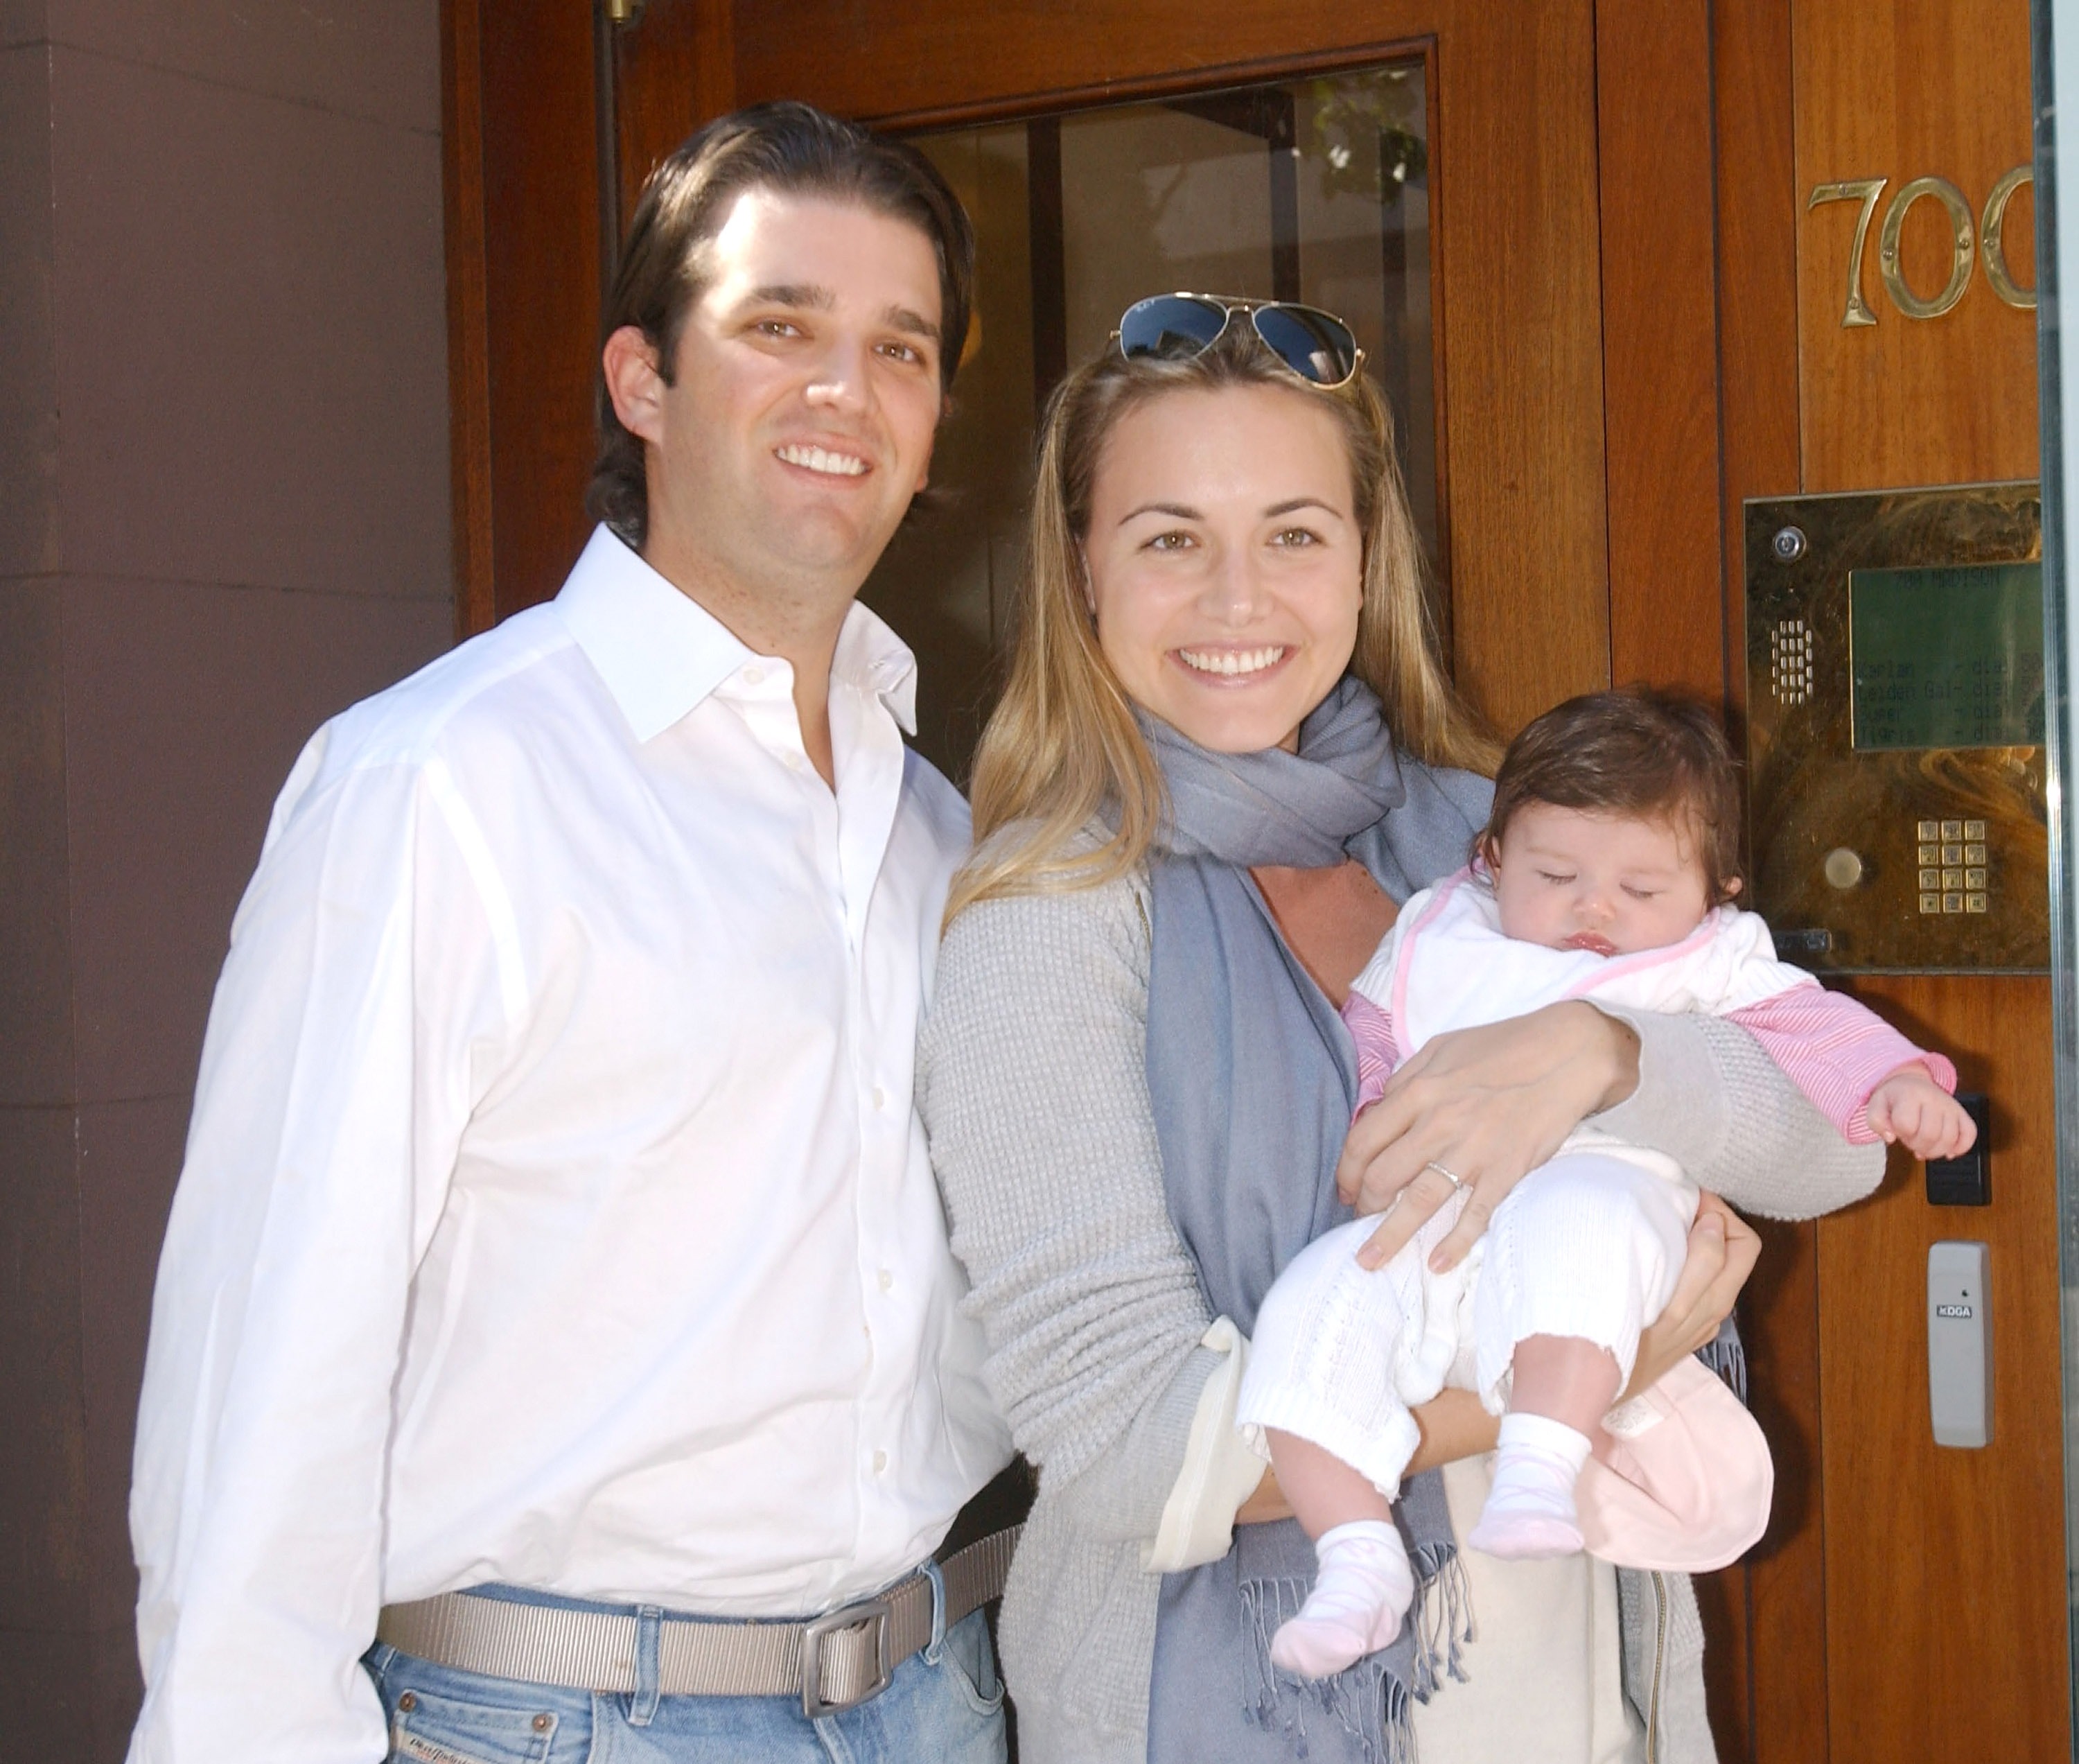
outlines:
[[1364, 1764], [1416, 1764], [1414, 1704], [1428, 1702], [1441, 1675], [1466, 1683], [1462, 1648], [1474, 1637], [1472, 1581], [1455, 1546], [1424, 1546], [1414, 1554], [1420, 1591], [1407, 1614], [1414, 1625], [1414, 1685], [1395, 1679], [1380, 1660], [1360, 1660], [1333, 1679], [1291, 1679], [1270, 1664], [1270, 1635], [1299, 1614], [1306, 1579], [1243, 1581], [1241, 1623], [1254, 1683], [1243, 1687], [1243, 1720], [1285, 1735], [1306, 1758], [1308, 1718], [1328, 1720], [1349, 1735]]

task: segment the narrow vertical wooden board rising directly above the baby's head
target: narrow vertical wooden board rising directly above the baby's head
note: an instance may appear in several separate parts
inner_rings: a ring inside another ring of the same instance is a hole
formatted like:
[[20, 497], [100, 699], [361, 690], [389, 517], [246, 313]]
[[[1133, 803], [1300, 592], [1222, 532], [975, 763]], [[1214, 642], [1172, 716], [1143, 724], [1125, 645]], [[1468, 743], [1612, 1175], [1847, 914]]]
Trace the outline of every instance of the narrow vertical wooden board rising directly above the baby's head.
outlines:
[[1726, 645], [1707, 0], [1601, 0], [1595, 100], [1611, 672], [1719, 699]]

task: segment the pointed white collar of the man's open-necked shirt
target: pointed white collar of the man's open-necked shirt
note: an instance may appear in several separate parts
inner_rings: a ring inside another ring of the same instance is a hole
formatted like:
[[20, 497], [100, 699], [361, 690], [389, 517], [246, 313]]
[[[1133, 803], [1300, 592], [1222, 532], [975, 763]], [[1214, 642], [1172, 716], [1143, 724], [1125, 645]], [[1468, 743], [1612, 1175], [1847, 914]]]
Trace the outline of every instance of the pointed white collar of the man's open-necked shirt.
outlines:
[[[607, 526], [593, 530], [555, 607], [636, 741], [663, 734], [755, 659], [742, 639]], [[917, 657], [857, 601], [844, 616], [830, 672], [888, 705], [904, 732], [917, 732]]]

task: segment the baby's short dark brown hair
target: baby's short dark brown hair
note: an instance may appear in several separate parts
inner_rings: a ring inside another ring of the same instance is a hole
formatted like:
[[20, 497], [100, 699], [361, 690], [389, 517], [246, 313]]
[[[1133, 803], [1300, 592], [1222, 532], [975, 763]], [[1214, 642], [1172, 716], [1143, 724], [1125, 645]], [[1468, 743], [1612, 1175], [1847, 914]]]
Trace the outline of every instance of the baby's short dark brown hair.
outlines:
[[1653, 686], [1582, 693], [1526, 724], [1495, 774], [1474, 849], [1489, 861], [1524, 803], [1672, 822], [1696, 842], [1713, 907], [1738, 890], [1740, 778], [1703, 701]]

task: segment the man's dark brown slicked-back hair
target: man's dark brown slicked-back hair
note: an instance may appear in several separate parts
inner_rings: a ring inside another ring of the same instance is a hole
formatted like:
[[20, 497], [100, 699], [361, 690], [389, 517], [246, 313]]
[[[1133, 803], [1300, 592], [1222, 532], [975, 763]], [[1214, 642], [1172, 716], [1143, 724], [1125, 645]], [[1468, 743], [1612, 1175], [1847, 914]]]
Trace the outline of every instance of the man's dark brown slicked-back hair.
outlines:
[[[622, 241], [603, 339], [634, 325], [657, 352], [665, 385], [672, 383], [686, 312], [707, 287], [701, 248], [721, 231], [746, 189], [854, 202], [923, 233], [938, 258], [940, 385], [952, 389], [975, 300], [975, 231], [967, 210], [938, 166], [913, 146], [813, 104], [755, 104], [717, 116], [651, 173]], [[640, 545], [649, 528], [642, 441], [613, 414], [605, 374], [597, 410], [599, 458], [584, 505], [593, 520]]]

